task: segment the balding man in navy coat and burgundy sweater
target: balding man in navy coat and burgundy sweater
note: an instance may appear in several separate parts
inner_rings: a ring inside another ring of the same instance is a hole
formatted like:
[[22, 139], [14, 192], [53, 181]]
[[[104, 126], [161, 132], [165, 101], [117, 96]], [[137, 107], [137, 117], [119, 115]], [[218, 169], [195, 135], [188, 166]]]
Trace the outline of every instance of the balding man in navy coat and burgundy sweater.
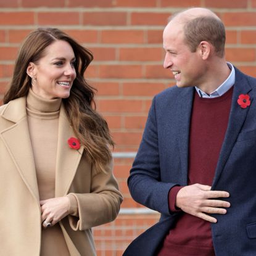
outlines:
[[256, 255], [256, 79], [225, 60], [225, 28], [192, 8], [163, 31], [176, 86], [154, 97], [128, 186], [161, 213], [125, 256]]

